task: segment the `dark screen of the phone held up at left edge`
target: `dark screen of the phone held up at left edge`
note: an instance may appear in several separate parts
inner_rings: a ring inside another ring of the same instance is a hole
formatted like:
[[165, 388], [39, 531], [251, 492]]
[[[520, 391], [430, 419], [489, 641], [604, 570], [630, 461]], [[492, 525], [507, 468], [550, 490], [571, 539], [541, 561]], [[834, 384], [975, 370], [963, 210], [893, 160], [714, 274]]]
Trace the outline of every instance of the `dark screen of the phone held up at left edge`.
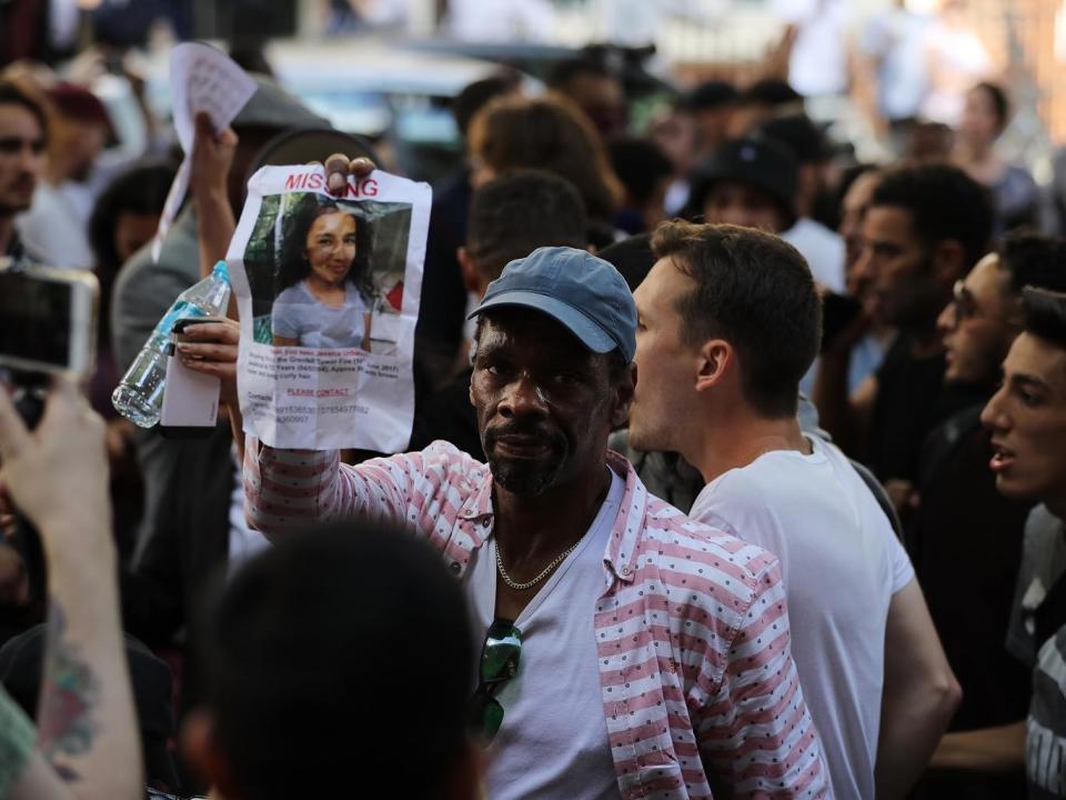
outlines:
[[0, 271], [0, 358], [68, 367], [72, 294], [66, 281]]

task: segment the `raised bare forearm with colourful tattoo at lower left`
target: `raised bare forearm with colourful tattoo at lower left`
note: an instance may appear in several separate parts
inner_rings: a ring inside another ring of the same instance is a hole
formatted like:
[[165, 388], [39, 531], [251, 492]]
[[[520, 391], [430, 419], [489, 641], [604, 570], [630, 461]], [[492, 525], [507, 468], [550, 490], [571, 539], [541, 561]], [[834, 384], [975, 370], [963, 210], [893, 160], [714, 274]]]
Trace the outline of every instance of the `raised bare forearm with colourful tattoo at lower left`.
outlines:
[[[27, 431], [0, 390], [2, 481], [38, 528], [50, 606], [37, 749], [67, 797], [142, 798], [140, 736], [119, 622], [104, 423], [78, 388], [57, 381]], [[23, 780], [42, 778], [31, 761]], [[24, 790], [12, 797], [63, 797]], [[38, 784], [40, 786], [40, 784]]]

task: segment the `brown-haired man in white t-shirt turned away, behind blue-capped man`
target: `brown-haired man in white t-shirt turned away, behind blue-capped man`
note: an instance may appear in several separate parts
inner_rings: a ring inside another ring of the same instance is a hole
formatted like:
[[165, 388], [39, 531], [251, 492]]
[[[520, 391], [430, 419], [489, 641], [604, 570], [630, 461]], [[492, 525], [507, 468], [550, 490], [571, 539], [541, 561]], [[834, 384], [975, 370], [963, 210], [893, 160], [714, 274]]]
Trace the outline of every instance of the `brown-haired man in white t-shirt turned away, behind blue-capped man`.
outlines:
[[735, 226], [667, 223], [652, 249], [630, 443], [680, 452], [707, 481], [692, 517], [781, 558], [835, 796], [902, 797], [959, 689], [887, 518], [841, 451], [800, 429], [821, 327], [811, 270]]

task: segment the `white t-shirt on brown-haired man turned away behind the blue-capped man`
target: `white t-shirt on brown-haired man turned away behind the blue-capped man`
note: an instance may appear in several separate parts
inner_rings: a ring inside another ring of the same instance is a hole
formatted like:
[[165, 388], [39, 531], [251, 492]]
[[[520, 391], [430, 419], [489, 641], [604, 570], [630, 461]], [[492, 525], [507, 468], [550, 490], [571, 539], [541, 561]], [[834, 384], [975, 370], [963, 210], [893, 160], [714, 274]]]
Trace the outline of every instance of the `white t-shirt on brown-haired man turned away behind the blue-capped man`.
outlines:
[[774, 450], [708, 483], [690, 517], [777, 554], [792, 654], [838, 798], [874, 796], [885, 622], [914, 569], [844, 454]]

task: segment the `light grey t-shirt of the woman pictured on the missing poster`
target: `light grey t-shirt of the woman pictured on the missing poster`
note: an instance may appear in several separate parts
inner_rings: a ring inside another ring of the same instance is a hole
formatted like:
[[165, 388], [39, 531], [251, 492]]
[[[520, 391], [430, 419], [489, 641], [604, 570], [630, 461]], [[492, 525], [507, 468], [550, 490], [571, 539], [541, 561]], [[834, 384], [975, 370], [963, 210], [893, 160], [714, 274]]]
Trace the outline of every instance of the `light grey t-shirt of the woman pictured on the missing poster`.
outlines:
[[344, 304], [334, 308], [314, 297], [300, 281], [274, 300], [271, 329], [275, 337], [296, 339], [300, 347], [361, 348], [369, 310], [352, 283], [344, 284]]

